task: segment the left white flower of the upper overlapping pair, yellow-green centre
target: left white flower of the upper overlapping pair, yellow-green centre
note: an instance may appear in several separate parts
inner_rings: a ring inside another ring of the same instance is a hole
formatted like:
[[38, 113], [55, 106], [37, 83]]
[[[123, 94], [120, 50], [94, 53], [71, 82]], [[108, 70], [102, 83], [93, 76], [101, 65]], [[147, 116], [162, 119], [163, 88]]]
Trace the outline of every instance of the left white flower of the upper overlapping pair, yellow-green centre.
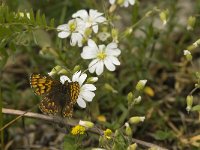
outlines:
[[85, 29], [85, 24], [81, 19], [72, 19], [67, 24], [59, 25], [57, 27], [57, 30], [59, 31], [58, 37], [67, 38], [71, 35], [70, 44], [72, 46], [78, 44], [78, 46], [81, 47]]

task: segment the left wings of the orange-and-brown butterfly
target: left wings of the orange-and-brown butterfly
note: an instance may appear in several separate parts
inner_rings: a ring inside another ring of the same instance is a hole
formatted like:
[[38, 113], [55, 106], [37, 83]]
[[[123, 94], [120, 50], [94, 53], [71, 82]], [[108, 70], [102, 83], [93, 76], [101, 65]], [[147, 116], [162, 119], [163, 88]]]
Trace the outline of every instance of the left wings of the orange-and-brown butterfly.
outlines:
[[43, 97], [39, 108], [44, 114], [55, 115], [60, 112], [60, 101], [56, 96], [62, 85], [60, 82], [54, 80], [50, 76], [32, 74], [30, 77], [30, 84], [35, 94]]

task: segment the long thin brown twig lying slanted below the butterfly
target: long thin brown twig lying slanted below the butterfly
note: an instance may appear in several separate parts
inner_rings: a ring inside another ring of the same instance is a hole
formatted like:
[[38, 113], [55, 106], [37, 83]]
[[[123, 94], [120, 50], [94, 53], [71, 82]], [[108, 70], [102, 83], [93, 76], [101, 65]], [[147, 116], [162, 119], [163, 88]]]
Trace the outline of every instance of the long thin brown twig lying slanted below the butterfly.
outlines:
[[[9, 115], [19, 115], [18, 117], [23, 116], [23, 117], [33, 118], [33, 119], [40, 119], [40, 120], [44, 120], [44, 121], [51, 122], [51, 123], [53, 122], [53, 123], [57, 123], [57, 124], [64, 125], [64, 126], [75, 126], [75, 125], [78, 124], [77, 120], [74, 120], [74, 119], [71, 119], [71, 118], [70, 119], [64, 119], [64, 120], [62, 118], [62, 120], [61, 120], [61, 118], [55, 119], [54, 117], [51, 117], [51, 116], [46, 116], [46, 115], [42, 115], [42, 114], [38, 114], [38, 113], [32, 113], [32, 112], [25, 112], [25, 111], [21, 111], [21, 110], [13, 110], [13, 109], [3, 108], [2, 112], [4, 114], [9, 114]], [[5, 129], [6, 127], [3, 127], [3, 129]], [[97, 127], [94, 127], [92, 129], [90, 129], [89, 131], [96, 133], [96, 134], [99, 134], [99, 135], [102, 135], [102, 133], [103, 133], [103, 130], [101, 130]], [[145, 141], [142, 141], [142, 140], [138, 140], [138, 139], [135, 139], [135, 138], [132, 138], [132, 141], [137, 143], [137, 144], [140, 144], [142, 146], [155, 147], [159, 150], [168, 150], [167, 148], [160, 147], [158, 145], [155, 145], [155, 144], [152, 144], [152, 143], [149, 143], [149, 142], [145, 142]]]

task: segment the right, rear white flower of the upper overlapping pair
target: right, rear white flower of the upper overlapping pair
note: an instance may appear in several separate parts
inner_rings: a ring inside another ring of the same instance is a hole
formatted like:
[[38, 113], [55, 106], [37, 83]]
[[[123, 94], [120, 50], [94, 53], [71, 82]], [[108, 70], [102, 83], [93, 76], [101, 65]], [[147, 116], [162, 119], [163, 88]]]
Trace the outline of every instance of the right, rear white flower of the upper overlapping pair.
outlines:
[[97, 10], [90, 9], [88, 13], [86, 10], [82, 9], [73, 14], [72, 17], [82, 19], [86, 25], [86, 28], [92, 27], [94, 33], [97, 33], [98, 23], [103, 23], [106, 21], [106, 18], [102, 15], [103, 13], [100, 13]]

